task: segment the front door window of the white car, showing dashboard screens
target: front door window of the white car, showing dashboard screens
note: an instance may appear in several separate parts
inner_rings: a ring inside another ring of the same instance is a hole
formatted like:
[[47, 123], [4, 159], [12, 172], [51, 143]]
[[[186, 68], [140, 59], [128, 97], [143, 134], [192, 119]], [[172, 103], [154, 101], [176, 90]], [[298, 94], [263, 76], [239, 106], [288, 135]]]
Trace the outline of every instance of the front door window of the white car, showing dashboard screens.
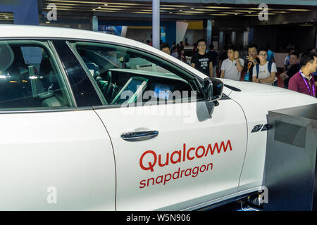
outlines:
[[194, 76], [158, 56], [111, 44], [73, 42], [107, 105], [201, 98]]

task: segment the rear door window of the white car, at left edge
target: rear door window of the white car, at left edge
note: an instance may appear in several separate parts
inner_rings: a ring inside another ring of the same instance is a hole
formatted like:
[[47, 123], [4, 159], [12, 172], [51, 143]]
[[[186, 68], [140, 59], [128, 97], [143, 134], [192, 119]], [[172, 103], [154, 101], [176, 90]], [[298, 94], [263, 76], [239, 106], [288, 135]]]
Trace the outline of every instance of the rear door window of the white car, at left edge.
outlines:
[[70, 107], [45, 41], [0, 41], [0, 109]]

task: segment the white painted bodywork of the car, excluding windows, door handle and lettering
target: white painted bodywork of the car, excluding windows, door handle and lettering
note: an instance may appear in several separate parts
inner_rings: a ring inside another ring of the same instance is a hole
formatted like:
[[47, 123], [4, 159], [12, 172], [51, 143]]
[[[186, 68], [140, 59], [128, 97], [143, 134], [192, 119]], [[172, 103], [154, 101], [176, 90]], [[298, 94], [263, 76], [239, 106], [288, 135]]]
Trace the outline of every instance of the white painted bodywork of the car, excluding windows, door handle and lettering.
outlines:
[[[138, 41], [109, 34], [66, 28], [0, 25], [0, 39], [82, 39], [125, 44], [173, 60], [198, 77], [206, 76]], [[184, 117], [123, 115], [122, 108], [70, 110], [48, 113], [0, 112], [0, 210], [194, 210], [249, 193], [263, 184], [266, 131], [251, 134], [266, 124], [268, 110], [317, 103], [316, 98], [274, 86], [221, 79], [223, 93], [211, 118], [201, 103], [182, 103], [197, 109], [194, 122]], [[159, 111], [173, 105], [137, 107]], [[129, 110], [136, 110], [131, 108]], [[165, 109], [166, 110], [166, 109]], [[127, 112], [125, 112], [127, 113]], [[4, 129], [5, 128], [5, 129]], [[125, 131], [150, 129], [159, 136], [142, 142], [120, 139]], [[185, 160], [154, 172], [140, 168], [146, 150], [173, 153], [188, 146], [231, 141], [232, 150]], [[139, 188], [142, 179], [213, 163], [211, 173], [171, 180], [165, 186]], [[58, 203], [47, 203], [47, 188], [56, 187]]]

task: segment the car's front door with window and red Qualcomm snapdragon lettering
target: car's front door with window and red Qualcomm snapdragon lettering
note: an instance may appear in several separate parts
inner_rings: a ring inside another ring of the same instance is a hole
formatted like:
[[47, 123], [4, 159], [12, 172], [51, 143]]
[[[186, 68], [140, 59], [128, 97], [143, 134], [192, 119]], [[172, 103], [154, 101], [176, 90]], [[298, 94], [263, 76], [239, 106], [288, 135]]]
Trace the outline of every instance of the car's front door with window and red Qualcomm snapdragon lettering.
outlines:
[[71, 45], [104, 94], [106, 105], [94, 108], [113, 143], [118, 210], [184, 210], [237, 191], [247, 124], [235, 101], [209, 113], [178, 63], [125, 46]]

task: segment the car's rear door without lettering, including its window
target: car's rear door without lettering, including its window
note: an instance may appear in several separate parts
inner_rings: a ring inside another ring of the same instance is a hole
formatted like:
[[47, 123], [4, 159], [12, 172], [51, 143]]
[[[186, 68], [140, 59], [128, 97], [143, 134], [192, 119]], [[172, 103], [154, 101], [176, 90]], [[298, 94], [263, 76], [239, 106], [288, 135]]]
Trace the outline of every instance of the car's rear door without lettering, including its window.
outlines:
[[52, 48], [0, 41], [0, 210], [115, 210], [111, 141]]

